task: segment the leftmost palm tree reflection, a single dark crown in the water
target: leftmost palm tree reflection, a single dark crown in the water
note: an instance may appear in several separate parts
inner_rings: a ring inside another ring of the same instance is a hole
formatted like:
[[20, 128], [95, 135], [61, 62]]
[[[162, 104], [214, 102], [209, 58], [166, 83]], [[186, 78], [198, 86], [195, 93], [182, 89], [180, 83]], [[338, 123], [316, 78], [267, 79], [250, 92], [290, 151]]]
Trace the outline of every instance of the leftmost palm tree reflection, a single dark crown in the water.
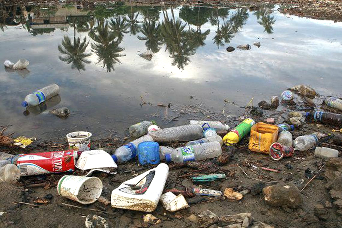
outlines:
[[85, 63], [90, 63], [86, 57], [91, 56], [91, 53], [84, 53], [87, 49], [89, 42], [87, 42], [86, 37], [83, 38], [81, 42], [81, 38], [74, 38], [74, 43], [71, 43], [69, 37], [64, 36], [62, 39], [62, 45], [58, 45], [58, 51], [64, 56], [58, 56], [60, 60], [66, 62], [67, 64], [71, 63], [71, 68], [77, 68], [78, 71], [80, 69], [86, 70]]

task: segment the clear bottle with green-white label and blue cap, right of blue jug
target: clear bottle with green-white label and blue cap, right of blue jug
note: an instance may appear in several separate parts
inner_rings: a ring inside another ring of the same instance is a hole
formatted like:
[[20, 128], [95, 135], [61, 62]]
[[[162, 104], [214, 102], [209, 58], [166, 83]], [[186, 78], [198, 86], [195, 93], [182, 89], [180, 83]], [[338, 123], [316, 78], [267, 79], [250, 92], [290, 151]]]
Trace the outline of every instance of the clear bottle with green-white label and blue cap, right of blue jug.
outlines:
[[196, 144], [192, 146], [179, 147], [174, 153], [167, 153], [165, 159], [167, 162], [185, 162], [194, 160], [204, 160], [220, 156], [222, 148], [219, 142], [210, 142]]

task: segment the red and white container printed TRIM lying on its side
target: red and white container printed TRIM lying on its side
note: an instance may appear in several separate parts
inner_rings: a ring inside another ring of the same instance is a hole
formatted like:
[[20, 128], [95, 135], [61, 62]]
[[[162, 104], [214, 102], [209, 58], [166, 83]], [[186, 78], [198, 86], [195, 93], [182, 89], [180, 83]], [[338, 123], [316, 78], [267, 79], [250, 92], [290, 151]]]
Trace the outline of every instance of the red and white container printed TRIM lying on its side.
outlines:
[[17, 166], [21, 176], [74, 171], [76, 155], [74, 150], [24, 153], [19, 156]]

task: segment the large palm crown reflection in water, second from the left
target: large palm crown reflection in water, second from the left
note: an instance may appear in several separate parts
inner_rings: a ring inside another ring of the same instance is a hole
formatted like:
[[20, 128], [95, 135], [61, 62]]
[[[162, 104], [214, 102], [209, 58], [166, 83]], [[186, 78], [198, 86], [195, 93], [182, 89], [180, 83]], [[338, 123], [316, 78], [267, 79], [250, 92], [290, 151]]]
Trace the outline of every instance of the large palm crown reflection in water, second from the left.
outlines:
[[[96, 31], [96, 32], [95, 32]], [[108, 24], [100, 21], [95, 31], [89, 32], [89, 36], [95, 41], [91, 43], [92, 52], [97, 55], [97, 63], [102, 61], [103, 68], [107, 68], [107, 72], [114, 70], [114, 64], [119, 61], [119, 54], [124, 48], [119, 46], [121, 40], [117, 38], [114, 32], [108, 29]], [[117, 40], [115, 40], [117, 38]]]

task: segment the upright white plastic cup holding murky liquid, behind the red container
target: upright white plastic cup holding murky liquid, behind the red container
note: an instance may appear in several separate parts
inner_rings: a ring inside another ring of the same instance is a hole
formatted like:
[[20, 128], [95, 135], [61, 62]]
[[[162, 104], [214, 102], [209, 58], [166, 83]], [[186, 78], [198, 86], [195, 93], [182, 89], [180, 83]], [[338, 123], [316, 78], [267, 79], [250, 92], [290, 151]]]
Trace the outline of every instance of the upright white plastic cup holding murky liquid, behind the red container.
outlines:
[[[84, 136], [78, 138], [80, 136]], [[75, 131], [66, 135], [68, 139], [69, 148], [76, 151], [90, 150], [90, 141], [92, 134], [86, 131]]]

